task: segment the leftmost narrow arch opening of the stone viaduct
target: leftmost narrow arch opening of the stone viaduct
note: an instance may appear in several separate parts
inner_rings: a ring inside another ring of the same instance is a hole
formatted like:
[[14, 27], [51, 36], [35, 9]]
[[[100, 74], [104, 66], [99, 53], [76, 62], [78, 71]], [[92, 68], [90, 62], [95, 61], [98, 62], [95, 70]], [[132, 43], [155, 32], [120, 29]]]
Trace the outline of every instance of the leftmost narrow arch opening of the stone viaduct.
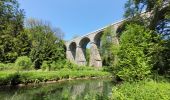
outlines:
[[71, 58], [73, 61], [76, 59], [76, 48], [77, 48], [76, 42], [71, 42], [69, 45], [69, 50], [71, 51]]

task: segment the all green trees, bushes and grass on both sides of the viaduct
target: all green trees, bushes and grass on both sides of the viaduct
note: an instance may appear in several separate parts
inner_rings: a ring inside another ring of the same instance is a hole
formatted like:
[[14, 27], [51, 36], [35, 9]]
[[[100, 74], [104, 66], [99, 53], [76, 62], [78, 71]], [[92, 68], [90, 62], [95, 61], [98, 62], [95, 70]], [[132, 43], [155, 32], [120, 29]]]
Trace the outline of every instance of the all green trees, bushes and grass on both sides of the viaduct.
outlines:
[[[107, 77], [111, 74], [105, 71], [111, 71], [122, 81], [113, 87], [113, 99], [168, 100], [170, 84], [159, 78], [170, 78], [170, 5], [166, 3], [127, 1], [127, 20], [117, 30], [108, 27], [101, 36], [102, 71], [67, 61], [60, 29], [37, 19], [28, 19], [24, 27], [24, 10], [17, 0], [1, 0], [0, 85]], [[86, 59], [90, 59], [88, 49]]]

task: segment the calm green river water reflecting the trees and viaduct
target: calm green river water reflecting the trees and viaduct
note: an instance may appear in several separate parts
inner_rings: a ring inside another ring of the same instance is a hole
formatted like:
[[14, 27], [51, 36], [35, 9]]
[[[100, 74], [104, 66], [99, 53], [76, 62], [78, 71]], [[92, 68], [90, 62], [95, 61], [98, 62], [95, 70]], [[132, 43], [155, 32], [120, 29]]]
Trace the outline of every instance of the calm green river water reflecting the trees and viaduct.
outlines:
[[109, 100], [110, 80], [77, 80], [38, 86], [1, 88], [1, 100]]

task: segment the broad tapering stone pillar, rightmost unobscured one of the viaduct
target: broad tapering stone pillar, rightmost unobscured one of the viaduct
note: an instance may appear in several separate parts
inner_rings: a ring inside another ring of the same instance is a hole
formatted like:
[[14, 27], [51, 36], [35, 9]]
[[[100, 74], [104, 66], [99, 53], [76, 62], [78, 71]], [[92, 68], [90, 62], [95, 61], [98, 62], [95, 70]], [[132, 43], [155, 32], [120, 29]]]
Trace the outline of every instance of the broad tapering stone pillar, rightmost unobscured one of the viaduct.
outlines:
[[102, 59], [99, 53], [99, 50], [97, 48], [97, 45], [95, 42], [91, 42], [90, 47], [90, 66], [94, 66], [97, 68], [102, 67]]

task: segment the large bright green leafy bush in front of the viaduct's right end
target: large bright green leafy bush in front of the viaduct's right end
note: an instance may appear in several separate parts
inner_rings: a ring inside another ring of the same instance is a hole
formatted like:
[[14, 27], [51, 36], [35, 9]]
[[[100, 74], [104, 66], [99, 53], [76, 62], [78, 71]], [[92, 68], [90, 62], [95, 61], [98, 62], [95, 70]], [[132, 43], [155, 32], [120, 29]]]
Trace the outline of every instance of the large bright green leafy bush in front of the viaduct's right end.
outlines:
[[127, 81], [145, 79], [153, 68], [152, 58], [155, 48], [159, 48], [157, 39], [152, 31], [139, 25], [129, 25], [120, 37], [115, 74]]

